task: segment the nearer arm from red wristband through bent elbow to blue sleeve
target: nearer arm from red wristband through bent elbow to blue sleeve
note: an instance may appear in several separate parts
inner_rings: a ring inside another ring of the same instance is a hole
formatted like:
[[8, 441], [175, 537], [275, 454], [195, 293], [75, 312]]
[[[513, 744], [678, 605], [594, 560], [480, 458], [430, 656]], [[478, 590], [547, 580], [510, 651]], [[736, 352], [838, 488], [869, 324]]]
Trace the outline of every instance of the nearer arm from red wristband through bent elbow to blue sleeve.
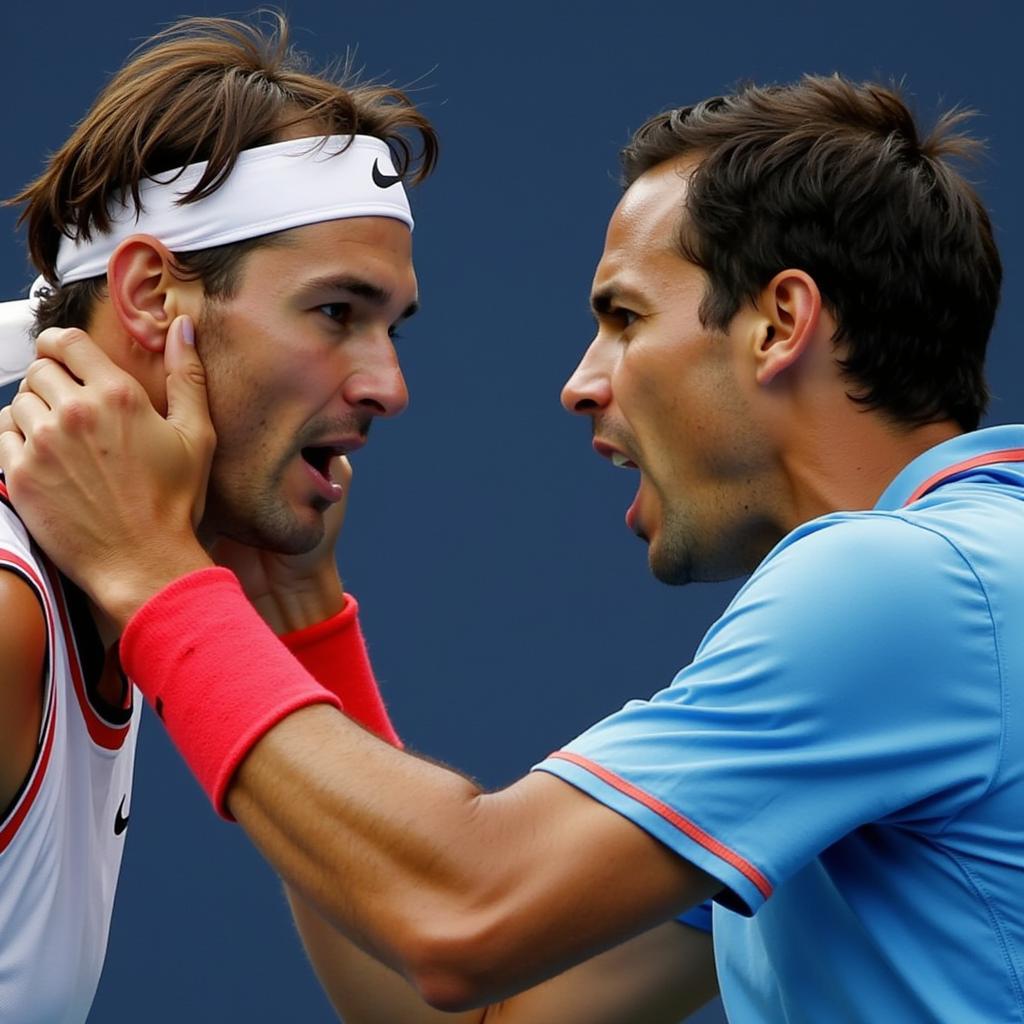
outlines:
[[433, 1006], [502, 998], [717, 888], [550, 775], [484, 795], [318, 706], [223, 570], [141, 609], [122, 652], [215, 805]]

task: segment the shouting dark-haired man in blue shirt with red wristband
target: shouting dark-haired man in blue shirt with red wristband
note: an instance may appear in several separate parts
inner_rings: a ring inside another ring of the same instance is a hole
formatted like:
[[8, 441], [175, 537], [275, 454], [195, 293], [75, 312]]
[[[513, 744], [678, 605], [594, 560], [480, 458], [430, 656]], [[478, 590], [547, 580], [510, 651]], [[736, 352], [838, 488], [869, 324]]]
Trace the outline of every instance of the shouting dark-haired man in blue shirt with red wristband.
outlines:
[[[563, 401], [639, 470], [658, 579], [753, 574], [670, 686], [497, 794], [352, 724], [212, 566], [180, 319], [167, 418], [41, 337], [10, 496], [323, 915], [346, 1020], [668, 1024], [709, 898], [740, 1024], [1024, 1020], [1024, 428], [978, 429], [1001, 268], [957, 120], [809, 77], [636, 133]], [[370, 995], [357, 949], [397, 973]]]

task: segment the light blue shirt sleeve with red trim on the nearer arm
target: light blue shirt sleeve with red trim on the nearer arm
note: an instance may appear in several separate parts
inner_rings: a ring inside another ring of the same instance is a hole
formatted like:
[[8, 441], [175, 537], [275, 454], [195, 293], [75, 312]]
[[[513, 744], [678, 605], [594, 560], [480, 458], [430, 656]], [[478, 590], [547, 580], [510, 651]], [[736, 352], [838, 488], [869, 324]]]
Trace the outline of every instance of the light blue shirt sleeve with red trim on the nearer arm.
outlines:
[[897, 514], [791, 535], [691, 665], [537, 768], [634, 821], [754, 912], [869, 822], [941, 827], [995, 771], [1001, 698], [984, 590]]

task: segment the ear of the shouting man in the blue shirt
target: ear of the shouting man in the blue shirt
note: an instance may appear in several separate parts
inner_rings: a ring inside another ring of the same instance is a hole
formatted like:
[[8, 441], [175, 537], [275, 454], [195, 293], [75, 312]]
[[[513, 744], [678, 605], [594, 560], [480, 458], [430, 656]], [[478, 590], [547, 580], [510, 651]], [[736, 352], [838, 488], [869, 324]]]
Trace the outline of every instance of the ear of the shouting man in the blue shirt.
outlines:
[[821, 318], [821, 293], [805, 271], [781, 270], [761, 292], [757, 306], [757, 381], [770, 384], [795, 366], [813, 341]]

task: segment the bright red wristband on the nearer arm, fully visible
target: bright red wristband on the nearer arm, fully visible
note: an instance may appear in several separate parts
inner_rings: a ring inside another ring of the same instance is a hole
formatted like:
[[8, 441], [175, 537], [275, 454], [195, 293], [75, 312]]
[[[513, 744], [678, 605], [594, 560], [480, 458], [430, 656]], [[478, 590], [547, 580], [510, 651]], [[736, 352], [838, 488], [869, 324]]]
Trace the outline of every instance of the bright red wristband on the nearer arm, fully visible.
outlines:
[[256, 741], [300, 708], [341, 706], [224, 568], [190, 572], [143, 604], [121, 637], [121, 664], [229, 821], [227, 787]]

